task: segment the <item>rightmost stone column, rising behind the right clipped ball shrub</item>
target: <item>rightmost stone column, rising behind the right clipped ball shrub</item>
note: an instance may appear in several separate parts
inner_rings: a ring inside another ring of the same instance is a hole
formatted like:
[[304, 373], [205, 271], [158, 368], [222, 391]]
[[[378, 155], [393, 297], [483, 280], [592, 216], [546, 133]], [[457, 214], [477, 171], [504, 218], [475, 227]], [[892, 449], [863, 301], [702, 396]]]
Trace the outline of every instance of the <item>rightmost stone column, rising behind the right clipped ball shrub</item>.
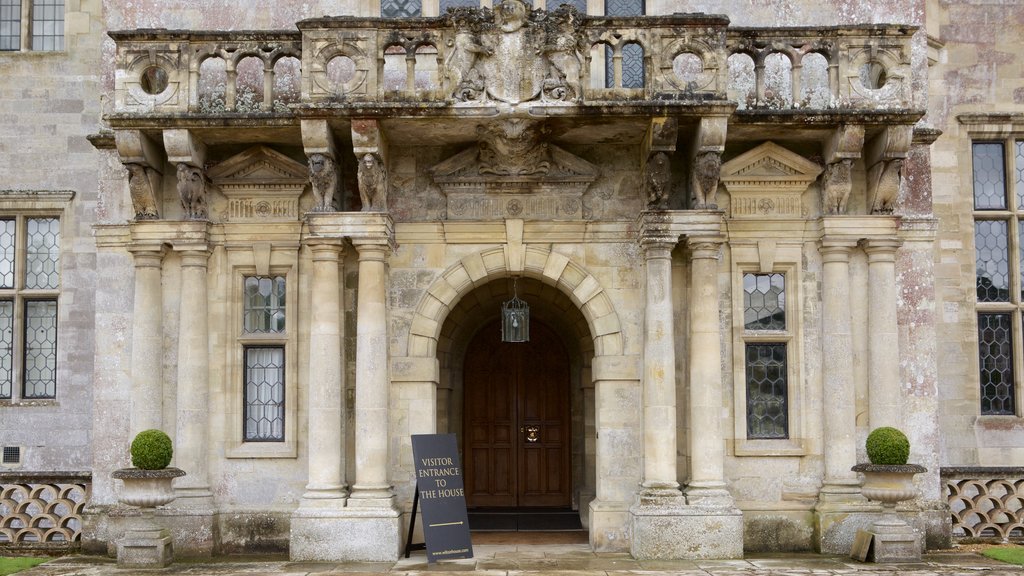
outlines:
[[894, 239], [867, 240], [868, 422], [900, 427], [899, 333], [896, 325], [896, 249]]

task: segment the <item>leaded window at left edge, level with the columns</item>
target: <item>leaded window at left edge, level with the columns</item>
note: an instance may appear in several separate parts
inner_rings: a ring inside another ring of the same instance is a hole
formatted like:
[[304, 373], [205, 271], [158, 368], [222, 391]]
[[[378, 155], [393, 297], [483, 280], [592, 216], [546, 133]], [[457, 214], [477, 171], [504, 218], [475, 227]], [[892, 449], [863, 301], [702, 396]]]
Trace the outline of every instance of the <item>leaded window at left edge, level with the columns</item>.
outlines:
[[0, 217], [0, 399], [57, 396], [60, 220]]

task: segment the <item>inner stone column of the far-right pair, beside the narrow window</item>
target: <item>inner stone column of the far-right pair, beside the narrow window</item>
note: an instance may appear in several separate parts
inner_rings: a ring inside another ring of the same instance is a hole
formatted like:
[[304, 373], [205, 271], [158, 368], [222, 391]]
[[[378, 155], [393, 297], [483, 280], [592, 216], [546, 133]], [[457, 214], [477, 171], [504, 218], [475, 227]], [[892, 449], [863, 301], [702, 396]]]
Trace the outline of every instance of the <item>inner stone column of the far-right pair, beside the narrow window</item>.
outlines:
[[821, 242], [821, 372], [824, 414], [822, 501], [859, 500], [860, 484], [850, 468], [857, 463], [856, 393], [850, 318], [850, 251], [853, 241]]

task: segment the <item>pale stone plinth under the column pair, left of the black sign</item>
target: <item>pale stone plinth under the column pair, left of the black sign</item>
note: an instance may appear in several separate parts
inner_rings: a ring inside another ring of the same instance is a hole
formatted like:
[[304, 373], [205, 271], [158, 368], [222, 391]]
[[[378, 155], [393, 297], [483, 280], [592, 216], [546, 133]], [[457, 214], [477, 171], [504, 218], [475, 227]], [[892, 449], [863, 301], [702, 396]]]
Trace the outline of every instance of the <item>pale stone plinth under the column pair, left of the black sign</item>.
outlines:
[[297, 509], [292, 515], [291, 560], [395, 562], [401, 547], [400, 518], [393, 506]]

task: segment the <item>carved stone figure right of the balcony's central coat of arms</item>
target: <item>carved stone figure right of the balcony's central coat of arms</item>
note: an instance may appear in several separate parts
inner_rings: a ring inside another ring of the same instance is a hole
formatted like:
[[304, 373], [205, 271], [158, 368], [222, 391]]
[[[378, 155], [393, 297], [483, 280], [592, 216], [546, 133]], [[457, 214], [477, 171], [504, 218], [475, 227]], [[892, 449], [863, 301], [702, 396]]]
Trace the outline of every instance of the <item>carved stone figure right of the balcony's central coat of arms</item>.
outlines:
[[583, 97], [580, 85], [583, 67], [580, 16], [575, 8], [568, 4], [559, 6], [552, 15], [556, 24], [548, 31], [548, 39], [542, 49], [549, 65], [545, 93], [555, 99], [580, 100]]

